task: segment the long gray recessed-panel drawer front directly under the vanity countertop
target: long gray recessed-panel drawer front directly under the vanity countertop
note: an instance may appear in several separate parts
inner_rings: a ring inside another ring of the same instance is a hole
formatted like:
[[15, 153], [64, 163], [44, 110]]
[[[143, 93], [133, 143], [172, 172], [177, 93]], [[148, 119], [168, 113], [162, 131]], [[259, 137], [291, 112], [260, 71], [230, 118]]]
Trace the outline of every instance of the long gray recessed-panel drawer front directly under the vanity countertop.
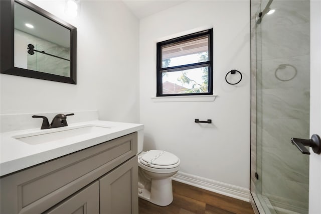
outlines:
[[40, 213], [137, 153], [137, 133], [1, 178], [1, 213]]

